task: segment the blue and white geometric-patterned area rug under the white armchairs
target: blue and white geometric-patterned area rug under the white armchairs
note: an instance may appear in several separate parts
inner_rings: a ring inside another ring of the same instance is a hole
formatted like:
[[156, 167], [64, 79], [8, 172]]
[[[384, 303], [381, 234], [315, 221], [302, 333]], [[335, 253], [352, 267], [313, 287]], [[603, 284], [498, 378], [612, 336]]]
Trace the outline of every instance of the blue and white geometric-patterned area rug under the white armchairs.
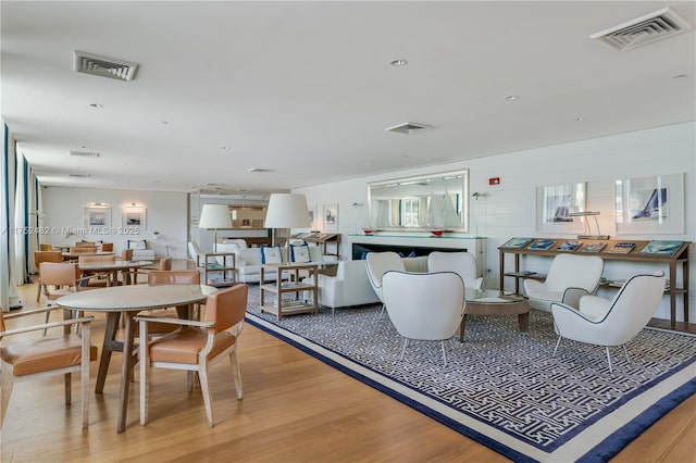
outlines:
[[[268, 303], [268, 301], [266, 301]], [[514, 461], [607, 461], [696, 393], [696, 337], [646, 328], [611, 349], [557, 337], [551, 315], [469, 317], [465, 340], [403, 342], [380, 305], [261, 314], [249, 285], [248, 323]]]

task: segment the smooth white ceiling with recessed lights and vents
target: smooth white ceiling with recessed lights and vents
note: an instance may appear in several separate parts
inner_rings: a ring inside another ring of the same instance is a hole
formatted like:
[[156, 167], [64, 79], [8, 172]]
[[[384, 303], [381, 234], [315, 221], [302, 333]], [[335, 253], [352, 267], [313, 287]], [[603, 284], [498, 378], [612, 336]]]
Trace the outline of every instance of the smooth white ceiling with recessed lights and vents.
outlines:
[[696, 120], [694, 29], [589, 39], [694, 1], [0, 4], [2, 117], [45, 185], [265, 193]]

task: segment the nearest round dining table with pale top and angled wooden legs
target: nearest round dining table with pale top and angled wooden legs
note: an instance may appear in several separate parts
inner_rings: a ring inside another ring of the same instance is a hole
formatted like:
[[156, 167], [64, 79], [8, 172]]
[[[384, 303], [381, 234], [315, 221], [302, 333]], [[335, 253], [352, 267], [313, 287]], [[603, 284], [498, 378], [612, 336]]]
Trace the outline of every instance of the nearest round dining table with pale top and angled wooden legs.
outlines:
[[[103, 392], [111, 352], [122, 352], [116, 433], [123, 433], [126, 428], [128, 379], [137, 363], [137, 354], [134, 349], [135, 324], [133, 317], [138, 312], [147, 310], [204, 303], [208, 296], [216, 290], [217, 288], [206, 285], [127, 285], [77, 291], [55, 300], [58, 305], [65, 310], [103, 312], [107, 314], [107, 326], [95, 392]], [[121, 315], [124, 316], [125, 333], [123, 341], [117, 341], [116, 330]], [[147, 342], [147, 340], [142, 341]]]

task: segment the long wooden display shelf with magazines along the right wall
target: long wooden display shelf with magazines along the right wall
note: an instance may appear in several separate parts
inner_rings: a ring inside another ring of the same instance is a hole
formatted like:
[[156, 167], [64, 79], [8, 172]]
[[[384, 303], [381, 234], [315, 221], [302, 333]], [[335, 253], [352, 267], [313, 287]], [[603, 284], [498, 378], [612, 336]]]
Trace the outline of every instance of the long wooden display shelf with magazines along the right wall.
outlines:
[[[556, 243], [546, 250], [530, 249], [537, 239], [556, 241]], [[566, 241], [577, 241], [580, 246], [573, 251], [559, 251], [556, 248]], [[602, 242], [607, 246], [599, 252], [584, 252], [583, 249], [589, 243]], [[627, 253], [609, 252], [616, 243], [632, 242], [635, 245], [633, 249]], [[622, 261], [622, 262], [642, 262], [642, 263], [655, 263], [667, 265], [667, 283], [669, 287], [664, 289], [666, 295], [670, 297], [670, 326], [672, 329], [676, 327], [676, 296], [682, 296], [682, 304], [684, 309], [684, 323], [688, 323], [688, 247], [691, 241], [682, 241], [681, 246], [671, 254], [643, 254], [641, 251], [648, 246], [651, 241], [648, 240], [635, 240], [635, 239], [611, 239], [611, 240], [597, 240], [597, 239], [568, 239], [568, 238], [532, 238], [532, 240], [521, 248], [506, 248], [504, 246], [498, 248], [499, 262], [500, 262], [500, 289], [505, 288], [505, 278], [514, 278], [514, 293], [520, 293], [520, 279], [535, 278], [543, 279], [546, 275], [537, 273], [526, 273], [520, 268], [521, 255], [546, 255], [555, 256], [558, 254], [576, 254], [576, 255], [599, 255], [606, 261]], [[514, 270], [506, 272], [505, 270], [505, 254], [514, 254]], [[678, 264], [682, 264], [682, 278], [681, 284], [678, 284]], [[606, 281], [600, 285], [604, 288], [617, 288], [613, 281]]]

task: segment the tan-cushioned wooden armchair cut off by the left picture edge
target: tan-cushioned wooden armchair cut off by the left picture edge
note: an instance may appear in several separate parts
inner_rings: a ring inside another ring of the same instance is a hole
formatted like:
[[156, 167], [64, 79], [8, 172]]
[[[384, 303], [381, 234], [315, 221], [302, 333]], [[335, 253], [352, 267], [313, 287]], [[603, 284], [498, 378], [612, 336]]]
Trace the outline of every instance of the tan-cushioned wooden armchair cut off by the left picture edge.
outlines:
[[[23, 326], [7, 329], [5, 320], [34, 315], [53, 309], [27, 310], [24, 312], [3, 315], [0, 309], [0, 359], [2, 375], [0, 375], [0, 427], [10, 402], [14, 383], [32, 378], [42, 378], [48, 375], [65, 375], [65, 403], [72, 400], [71, 375], [80, 372], [83, 428], [89, 426], [89, 362], [97, 360], [97, 348], [89, 343], [91, 316], [53, 322], [42, 325]], [[5, 336], [20, 335], [55, 327], [78, 327], [54, 337], [4, 342]]]

